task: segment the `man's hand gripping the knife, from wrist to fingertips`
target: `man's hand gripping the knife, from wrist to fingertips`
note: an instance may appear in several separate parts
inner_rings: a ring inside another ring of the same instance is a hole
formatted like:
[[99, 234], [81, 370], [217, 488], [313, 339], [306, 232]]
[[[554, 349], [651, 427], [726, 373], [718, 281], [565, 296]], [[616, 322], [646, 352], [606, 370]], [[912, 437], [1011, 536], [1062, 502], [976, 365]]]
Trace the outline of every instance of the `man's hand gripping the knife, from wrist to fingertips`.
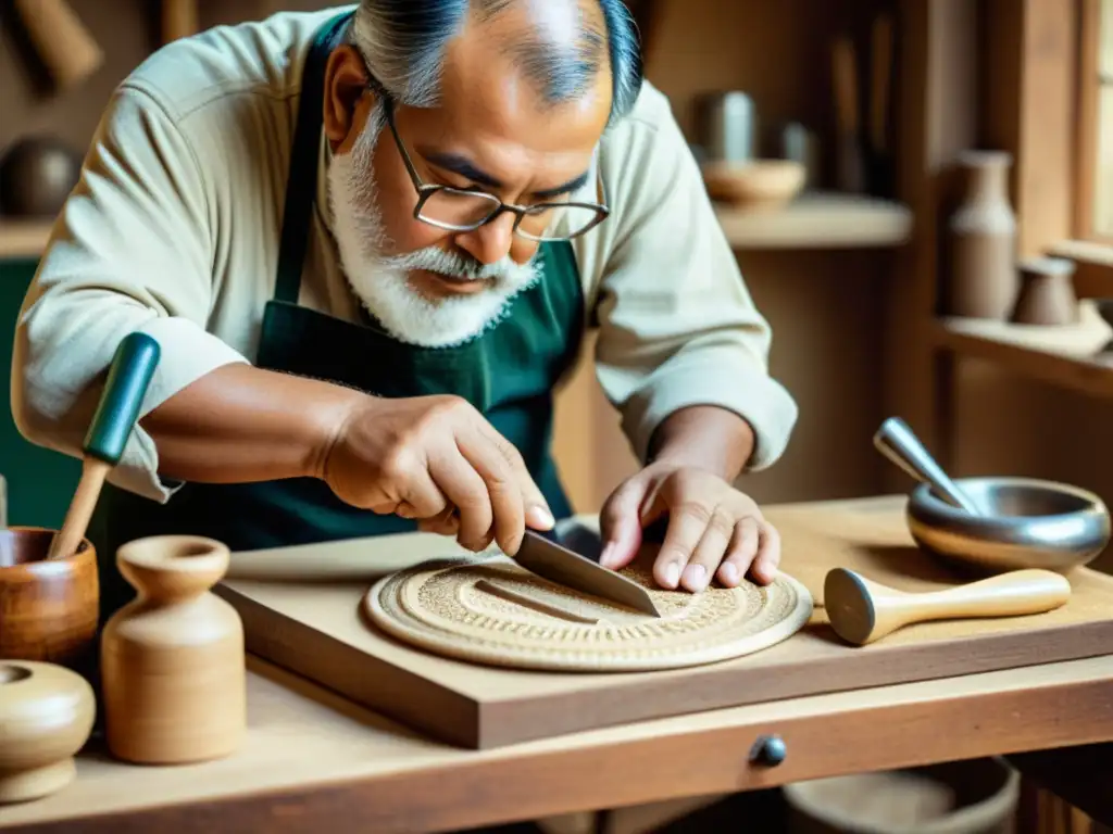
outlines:
[[518, 553], [553, 526], [518, 449], [460, 397], [361, 398], [324, 456], [323, 478], [356, 507], [454, 529], [462, 547]]

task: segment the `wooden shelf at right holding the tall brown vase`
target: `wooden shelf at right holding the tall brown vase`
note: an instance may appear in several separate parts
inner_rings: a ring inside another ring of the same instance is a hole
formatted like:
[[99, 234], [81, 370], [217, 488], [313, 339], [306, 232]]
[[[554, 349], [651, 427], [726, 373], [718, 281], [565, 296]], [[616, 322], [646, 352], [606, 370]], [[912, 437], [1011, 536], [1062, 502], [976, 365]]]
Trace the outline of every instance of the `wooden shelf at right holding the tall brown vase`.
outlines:
[[1082, 305], [1078, 324], [1066, 327], [942, 318], [935, 330], [936, 347], [956, 356], [984, 359], [1028, 379], [1113, 398], [1113, 355], [1097, 356], [1111, 339], [1113, 329], [1089, 304]]

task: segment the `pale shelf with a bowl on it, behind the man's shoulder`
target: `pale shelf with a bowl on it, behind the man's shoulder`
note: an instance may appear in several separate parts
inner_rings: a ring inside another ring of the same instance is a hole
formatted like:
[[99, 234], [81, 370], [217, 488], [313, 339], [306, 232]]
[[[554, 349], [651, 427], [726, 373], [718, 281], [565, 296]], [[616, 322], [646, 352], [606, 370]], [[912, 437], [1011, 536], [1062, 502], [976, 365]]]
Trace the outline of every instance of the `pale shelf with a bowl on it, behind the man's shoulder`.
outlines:
[[899, 246], [912, 234], [912, 211], [873, 197], [804, 193], [784, 208], [716, 205], [735, 249], [820, 249]]

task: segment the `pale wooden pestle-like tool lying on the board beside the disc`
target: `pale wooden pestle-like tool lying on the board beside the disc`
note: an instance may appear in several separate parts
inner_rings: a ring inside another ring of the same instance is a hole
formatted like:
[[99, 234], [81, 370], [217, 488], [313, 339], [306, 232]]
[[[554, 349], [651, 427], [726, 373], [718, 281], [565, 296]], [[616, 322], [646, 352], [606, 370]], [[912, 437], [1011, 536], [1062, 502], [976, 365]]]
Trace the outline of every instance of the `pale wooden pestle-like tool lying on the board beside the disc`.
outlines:
[[856, 645], [873, 643], [913, 623], [1042, 614], [1070, 597], [1066, 577], [1036, 569], [1012, 570], [920, 594], [886, 587], [846, 568], [835, 568], [824, 583], [824, 606], [831, 627]]

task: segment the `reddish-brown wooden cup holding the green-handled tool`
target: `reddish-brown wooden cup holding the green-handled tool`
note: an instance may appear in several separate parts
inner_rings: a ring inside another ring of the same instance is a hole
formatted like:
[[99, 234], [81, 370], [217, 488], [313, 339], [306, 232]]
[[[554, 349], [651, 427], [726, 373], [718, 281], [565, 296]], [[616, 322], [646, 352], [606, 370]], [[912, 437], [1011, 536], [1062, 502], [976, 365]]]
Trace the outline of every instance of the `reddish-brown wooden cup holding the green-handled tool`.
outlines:
[[0, 657], [83, 669], [97, 656], [97, 552], [47, 560], [55, 530], [0, 530]]

